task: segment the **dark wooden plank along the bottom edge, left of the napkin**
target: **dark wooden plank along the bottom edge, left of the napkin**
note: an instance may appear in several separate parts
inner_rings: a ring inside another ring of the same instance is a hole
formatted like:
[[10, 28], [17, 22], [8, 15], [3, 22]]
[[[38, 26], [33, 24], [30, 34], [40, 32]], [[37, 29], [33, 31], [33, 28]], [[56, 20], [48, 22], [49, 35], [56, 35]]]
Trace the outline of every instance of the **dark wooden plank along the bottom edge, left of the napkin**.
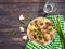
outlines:
[[0, 48], [1, 49], [23, 49], [23, 47], [22, 46], [20, 46], [20, 45], [14, 45], [14, 44], [0, 44]]

